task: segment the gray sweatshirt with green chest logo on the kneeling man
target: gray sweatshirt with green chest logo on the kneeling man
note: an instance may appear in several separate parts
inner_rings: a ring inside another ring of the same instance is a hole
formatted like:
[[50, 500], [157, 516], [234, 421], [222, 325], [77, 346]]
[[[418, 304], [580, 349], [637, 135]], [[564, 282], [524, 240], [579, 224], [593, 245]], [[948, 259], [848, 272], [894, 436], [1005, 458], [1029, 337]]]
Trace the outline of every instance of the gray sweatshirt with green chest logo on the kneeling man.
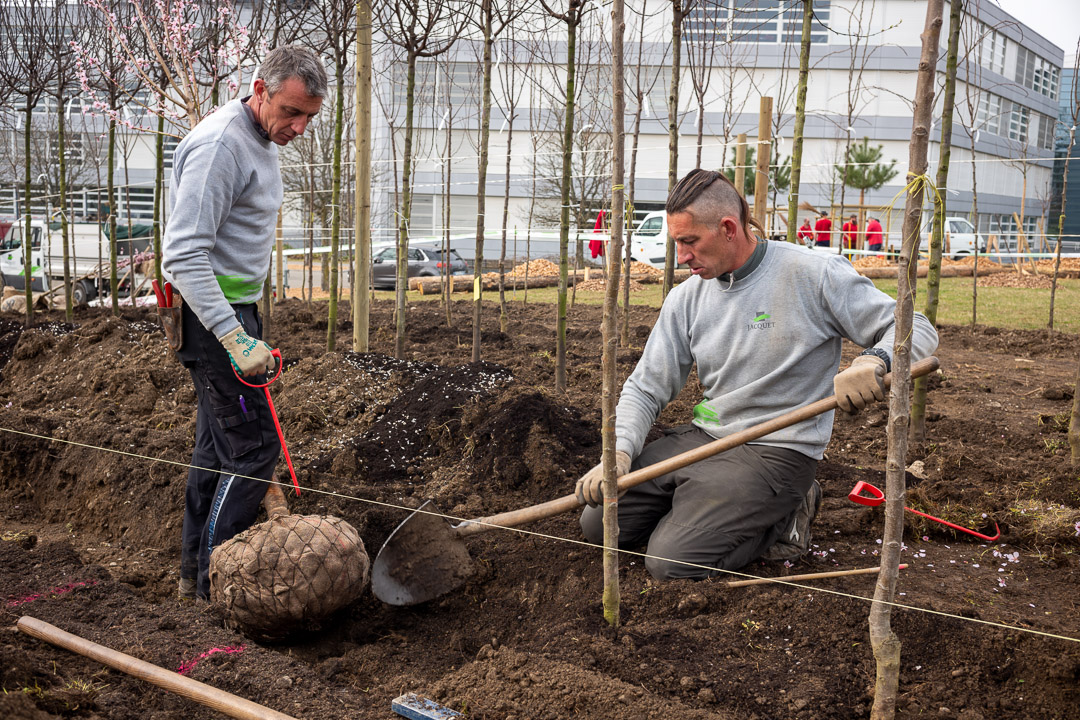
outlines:
[[[617, 448], [631, 458], [642, 451], [694, 363], [705, 397], [693, 424], [717, 438], [828, 397], [842, 338], [892, 357], [894, 308], [847, 259], [791, 243], [767, 243], [760, 263], [730, 289], [727, 277], [689, 279], [667, 296], [623, 384]], [[937, 332], [915, 313], [912, 361], [936, 347]], [[832, 432], [827, 412], [755, 443], [820, 460]]]

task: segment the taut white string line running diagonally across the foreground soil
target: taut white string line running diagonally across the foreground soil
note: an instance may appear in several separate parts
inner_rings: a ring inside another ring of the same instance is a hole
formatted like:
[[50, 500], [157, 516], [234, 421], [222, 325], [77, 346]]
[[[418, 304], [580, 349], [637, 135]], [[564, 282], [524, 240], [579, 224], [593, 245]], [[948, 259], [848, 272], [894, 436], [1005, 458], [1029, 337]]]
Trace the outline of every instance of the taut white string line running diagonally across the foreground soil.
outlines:
[[[220, 470], [214, 470], [214, 468], [210, 468], [210, 467], [200, 467], [199, 465], [192, 465], [192, 464], [189, 464], [189, 463], [183, 463], [183, 462], [179, 462], [179, 461], [176, 461], [176, 460], [165, 460], [164, 458], [151, 458], [150, 456], [143, 456], [143, 454], [138, 454], [137, 452], [129, 452], [126, 450], [114, 450], [112, 448], [104, 448], [104, 447], [99, 447], [99, 446], [96, 446], [96, 445], [89, 445], [86, 443], [77, 443], [75, 440], [68, 440], [68, 439], [60, 438], [60, 437], [49, 437], [48, 435], [39, 435], [37, 433], [29, 433], [29, 432], [26, 432], [26, 431], [13, 430], [11, 427], [2, 427], [2, 426], [0, 426], [0, 431], [3, 431], [5, 433], [12, 433], [14, 435], [24, 435], [26, 437], [33, 437], [33, 438], [41, 439], [41, 440], [49, 440], [49, 441], [53, 441], [53, 443], [65, 443], [67, 445], [73, 445], [73, 446], [77, 446], [77, 447], [87, 448], [87, 449], [91, 449], [91, 450], [102, 450], [103, 452], [112, 452], [112, 453], [116, 453], [116, 454], [126, 456], [126, 457], [130, 457], [130, 458], [136, 458], [138, 460], [150, 460], [152, 462], [161, 462], [161, 463], [165, 463], [165, 464], [168, 464], [168, 465], [176, 465], [178, 467], [185, 467], [185, 468], [188, 468], [188, 470], [201, 470], [201, 471], [205, 471], [205, 472], [210, 472], [210, 473], [220, 473], [221, 472]], [[283, 490], [288, 490], [288, 489], [292, 489], [294, 487], [291, 483], [279, 483], [276, 480], [267, 480], [267, 479], [264, 479], [261, 477], [253, 477], [251, 475], [242, 475], [240, 473], [230, 473], [230, 474], [231, 475], [235, 475], [237, 477], [244, 478], [246, 480], [257, 480], [259, 483], [266, 483], [267, 485], [278, 485], [278, 486], [281, 486], [283, 488]], [[700, 568], [702, 570], [708, 570], [711, 572], [717, 572], [717, 573], [724, 572], [724, 573], [728, 573], [728, 574], [731, 574], [731, 575], [738, 575], [740, 578], [745, 578], [747, 580], [764, 580], [764, 581], [767, 581], [767, 582], [770, 582], [770, 583], [777, 583], [777, 584], [780, 584], [780, 585], [789, 585], [791, 587], [797, 587], [799, 589], [806, 589], [806, 590], [811, 590], [811, 592], [815, 592], [815, 593], [827, 593], [829, 595], [836, 595], [838, 597], [846, 597], [846, 598], [850, 598], [850, 599], [853, 599], [853, 600], [862, 600], [862, 601], [870, 602], [870, 603], [881, 602], [882, 604], [887, 604], [887, 606], [890, 606], [890, 607], [893, 607], [893, 608], [901, 608], [903, 610], [913, 610], [915, 612], [924, 612], [924, 613], [929, 613], [929, 614], [932, 614], [932, 615], [941, 615], [943, 617], [953, 617], [955, 620], [960, 620], [960, 621], [966, 621], [966, 622], [971, 622], [971, 623], [978, 623], [981, 625], [989, 625], [991, 627], [999, 627], [999, 628], [1007, 629], [1007, 630], [1017, 630], [1020, 633], [1029, 633], [1031, 635], [1039, 635], [1039, 636], [1043, 636], [1043, 637], [1048, 637], [1048, 638], [1054, 638], [1056, 640], [1066, 640], [1066, 641], [1069, 641], [1069, 642], [1080, 642], [1080, 638], [1072, 638], [1072, 637], [1068, 637], [1068, 636], [1065, 636], [1065, 635], [1055, 635], [1053, 633], [1044, 633], [1042, 630], [1034, 630], [1034, 629], [1029, 629], [1029, 628], [1026, 628], [1026, 627], [1018, 627], [1016, 625], [1008, 625], [1005, 623], [995, 623], [993, 621], [980, 620], [980, 619], [976, 619], [976, 617], [964, 617], [963, 615], [955, 615], [955, 614], [951, 614], [951, 613], [942, 612], [940, 610], [931, 610], [931, 609], [927, 609], [927, 608], [919, 608], [917, 606], [909, 606], [909, 604], [904, 604], [904, 603], [901, 603], [901, 602], [892, 602], [892, 601], [889, 601], [889, 600], [875, 600], [874, 598], [867, 598], [867, 597], [864, 597], [862, 595], [854, 595], [854, 594], [851, 594], [851, 593], [841, 593], [839, 590], [832, 590], [832, 589], [824, 588], [824, 587], [814, 587], [812, 585], [802, 585], [800, 583], [794, 583], [794, 582], [791, 582], [791, 581], [783, 580], [782, 578], [761, 578], [761, 576], [753, 575], [753, 574], [745, 573], [745, 572], [739, 572], [737, 570], [723, 570], [720, 568], [714, 568], [714, 567], [707, 566], [707, 565], [700, 565], [698, 562], [689, 562], [689, 561], [686, 561], [686, 560], [676, 560], [676, 559], [672, 559], [672, 558], [661, 557], [661, 556], [658, 556], [658, 555], [650, 555], [648, 553], [639, 553], [639, 552], [636, 552], [636, 551], [625, 551], [625, 549], [621, 549], [621, 548], [607, 548], [604, 545], [597, 545], [595, 543], [590, 543], [589, 541], [585, 541], [585, 540], [575, 540], [572, 538], [562, 538], [559, 535], [551, 535], [551, 534], [546, 534], [546, 533], [542, 533], [542, 532], [537, 532], [535, 530], [525, 530], [523, 528], [513, 528], [513, 527], [505, 527], [505, 526], [501, 526], [501, 525], [495, 525], [492, 522], [486, 522], [483, 518], [463, 518], [463, 517], [457, 517], [455, 515], [446, 515], [444, 513], [436, 513], [434, 511], [422, 510], [422, 508], [419, 508], [419, 507], [406, 507], [404, 505], [395, 505], [393, 503], [388, 503], [388, 502], [383, 502], [383, 501], [380, 501], [380, 500], [370, 500], [368, 498], [360, 498], [360, 497], [356, 497], [356, 495], [349, 495], [349, 494], [345, 494], [345, 493], [341, 493], [341, 492], [334, 492], [333, 490], [322, 490], [322, 489], [319, 489], [319, 488], [310, 488], [310, 487], [306, 487], [306, 486], [300, 486], [300, 489], [303, 490], [303, 491], [307, 491], [307, 492], [314, 492], [314, 493], [318, 493], [318, 494], [328, 495], [328, 497], [333, 497], [333, 498], [340, 498], [342, 500], [355, 500], [355, 501], [360, 501], [360, 502], [363, 502], [363, 503], [368, 503], [370, 505], [379, 505], [381, 507], [388, 507], [388, 508], [392, 508], [392, 510], [405, 511], [406, 513], [409, 513], [409, 514], [422, 513], [424, 515], [431, 515], [431, 516], [434, 516], [434, 517], [441, 517], [441, 518], [443, 518], [445, 520], [456, 520], [459, 524], [465, 524], [465, 522], [468, 522], [470, 525], [483, 525], [485, 527], [492, 528], [492, 529], [498, 529], [498, 530], [512, 530], [513, 532], [517, 532], [517, 533], [521, 533], [521, 534], [524, 534], [524, 535], [532, 535], [532, 536], [536, 536], [536, 538], [543, 538], [545, 540], [553, 540], [553, 541], [557, 541], [557, 542], [569, 543], [569, 544], [572, 544], [572, 545], [582, 545], [582, 546], [585, 546], [585, 547], [594, 547], [594, 548], [597, 548], [597, 549], [613, 549], [615, 552], [622, 553], [624, 555], [632, 555], [632, 556], [635, 556], [635, 557], [649, 558], [649, 559], [654, 559], [654, 560], [662, 560], [664, 562], [672, 562], [674, 565], [681, 565], [681, 566], [691, 567], [691, 568]]]

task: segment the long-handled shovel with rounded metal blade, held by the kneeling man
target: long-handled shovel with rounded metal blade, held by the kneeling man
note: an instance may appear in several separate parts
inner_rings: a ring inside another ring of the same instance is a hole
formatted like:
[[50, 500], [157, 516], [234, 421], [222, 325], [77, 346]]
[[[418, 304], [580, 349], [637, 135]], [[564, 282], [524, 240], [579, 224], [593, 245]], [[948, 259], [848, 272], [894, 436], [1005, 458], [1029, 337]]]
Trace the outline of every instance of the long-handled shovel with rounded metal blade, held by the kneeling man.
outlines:
[[[912, 377], [929, 375], [937, 369], [937, 365], [936, 357], [915, 363], [912, 366]], [[886, 388], [889, 386], [891, 379], [891, 373], [885, 377]], [[619, 478], [619, 492], [823, 412], [835, 410], [836, 407], [836, 396], [832, 395], [693, 450], [627, 473]], [[497, 528], [528, 525], [578, 507], [581, 507], [581, 503], [578, 502], [577, 495], [571, 493], [539, 505], [464, 520], [460, 525], [453, 526], [429, 500], [405, 518], [387, 538], [372, 566], [372, 592], [375, 593], [375, 597], [393, 606], [417, 604], [437, 598], [457, 589], [472, 576], [473, 562], [464, 543], [464, 539], [469, 535]]]

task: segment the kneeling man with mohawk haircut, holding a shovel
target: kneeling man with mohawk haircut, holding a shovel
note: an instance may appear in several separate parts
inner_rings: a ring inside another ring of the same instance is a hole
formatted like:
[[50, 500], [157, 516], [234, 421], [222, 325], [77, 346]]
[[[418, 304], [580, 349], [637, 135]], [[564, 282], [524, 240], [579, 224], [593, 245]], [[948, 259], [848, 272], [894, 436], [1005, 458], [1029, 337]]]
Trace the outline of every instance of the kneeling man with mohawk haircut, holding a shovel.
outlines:
[[[666, 210], [678, 261], [692, 276], [664, 300], [623, 384], [616, 412], [619, 475], [831, 394], [850, 413], [885, 397], [892, 298], [832, 254], [766, 241], [720, 173], [691, 171], [672, 190]], [[843, 338], [866, 350], [837, 375]], [[936, 345], [933, 326], [916, 313], [912, 359]], [[645, 446], [694, 365], [704, 399], [693, 422]], [[829, 412], [632, 488], [619, 500], [619, 546], [647, 543], [645, 566], [659, 579], [706, 578], [767, 551], [774, 559], [798, 557], [810, 546], [821, 499], [814, 472], [832, 430]], [[603, 474], [597, 465], [577, 486], [578, 499], [590, 505], [581, 528], [597, 544]]]

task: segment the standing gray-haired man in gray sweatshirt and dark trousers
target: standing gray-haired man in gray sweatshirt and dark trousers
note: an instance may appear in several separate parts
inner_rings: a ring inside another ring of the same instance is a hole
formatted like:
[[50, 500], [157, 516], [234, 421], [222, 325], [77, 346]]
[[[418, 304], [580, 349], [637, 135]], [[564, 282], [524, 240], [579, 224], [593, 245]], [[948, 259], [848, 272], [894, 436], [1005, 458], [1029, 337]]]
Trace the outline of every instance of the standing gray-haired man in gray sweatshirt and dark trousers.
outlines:
[[199, 405], [180, 597], [210, 596], [211, 552], [255, 520], [281, 448], [264, 393], [237, 375], [265, 382], [275, 365], [257, 302], [282, 203], [278, 146], [319, 112], [326, 70], [310, 50], [285, 45], [267, 54], [253, 91], [204, 118], [173, 158], [162, 270], [184, 299], [178, 355]]

